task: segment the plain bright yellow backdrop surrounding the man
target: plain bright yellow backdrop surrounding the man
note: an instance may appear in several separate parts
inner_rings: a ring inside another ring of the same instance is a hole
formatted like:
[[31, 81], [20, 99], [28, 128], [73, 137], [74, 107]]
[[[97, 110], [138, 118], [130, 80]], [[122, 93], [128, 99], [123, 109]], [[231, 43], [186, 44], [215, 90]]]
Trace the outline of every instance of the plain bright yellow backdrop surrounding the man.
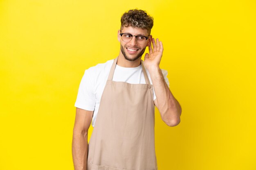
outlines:
[[117, 57], [134, 8], [154, 17], [182, 106], [175, 127], [156, 111], [159, 170], [256, 170], [255, 0], [1, 0], [0, 170], [73, 169], [79, 83]]

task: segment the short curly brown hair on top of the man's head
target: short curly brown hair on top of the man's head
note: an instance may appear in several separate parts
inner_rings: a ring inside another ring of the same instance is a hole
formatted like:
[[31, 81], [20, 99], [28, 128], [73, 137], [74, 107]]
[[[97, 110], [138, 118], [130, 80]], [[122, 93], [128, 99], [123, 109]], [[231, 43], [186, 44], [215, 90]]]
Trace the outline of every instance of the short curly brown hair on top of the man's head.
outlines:
[[153, 27], [154, 19], [141, 9], [131, 9], [125, 12], [121, 17], [121, 29], [132, 26], [137, 28], [146, 29], [150, 34]]

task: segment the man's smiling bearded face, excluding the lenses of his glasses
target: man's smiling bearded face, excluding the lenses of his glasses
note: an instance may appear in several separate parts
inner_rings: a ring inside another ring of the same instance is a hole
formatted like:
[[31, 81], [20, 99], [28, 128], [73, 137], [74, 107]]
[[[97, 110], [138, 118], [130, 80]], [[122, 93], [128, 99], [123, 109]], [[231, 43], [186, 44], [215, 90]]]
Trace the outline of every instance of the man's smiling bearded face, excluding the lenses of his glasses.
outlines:
[[135, 37], [132, 37], [130, 42], [125, 42], [121, 39], [120, 33], [128, 33], [131, 35], [143, 35], [149, 37], [148, 31], [142, 28], [134, 28], [132, 26], [125, 27], [118, 31], [118, 40], [120, 41], [120, 50], [124, 55], [124, 58], [128, 61], [135, 61], [140, 59], [145, 52], [146, 47], [150, 45], [151, 35], [144, 44], [138, 44]]

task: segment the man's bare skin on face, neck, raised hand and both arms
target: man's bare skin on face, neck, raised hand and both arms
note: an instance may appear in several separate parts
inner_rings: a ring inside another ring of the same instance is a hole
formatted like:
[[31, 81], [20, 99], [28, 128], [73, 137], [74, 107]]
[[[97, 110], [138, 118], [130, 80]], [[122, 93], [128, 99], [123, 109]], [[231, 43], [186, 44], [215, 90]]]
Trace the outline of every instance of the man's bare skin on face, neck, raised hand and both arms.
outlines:
[[[120, 32], [131, 35], [144, 35], [149, 37], [144, 44], [138, 44], [135, 37], [130, 42], [124, 42], [121, 39]], [[160, 112], [162, 120], [168, 126], [177, 126], [180, 123], [182, 109], [179, 102], [174, 98], [168, 88], [161, 69], [160, 61], [163, 55], [163, 44], [159, 39], [154, 39], [148, 35], [146, 29], [123, 27], [118, 31], [118, 41], [120, 42], [120, 52], [117, 65], [121, 67], [138, 67], [141, 64], [141, 57], [148, 47], [149, 53], [144, 56], [144, 65], [149, 71], [153, 83], [155, 95], [154, 104]], [[135, 53], [129, 53], [127, 48], [138, 49]], [[76, 118], [73, 129], [72, 156], [75, 170], [87, 170], [88, 156], [88, 129], [92, 122], [93, 111], [87, 111], [76, 108]]]

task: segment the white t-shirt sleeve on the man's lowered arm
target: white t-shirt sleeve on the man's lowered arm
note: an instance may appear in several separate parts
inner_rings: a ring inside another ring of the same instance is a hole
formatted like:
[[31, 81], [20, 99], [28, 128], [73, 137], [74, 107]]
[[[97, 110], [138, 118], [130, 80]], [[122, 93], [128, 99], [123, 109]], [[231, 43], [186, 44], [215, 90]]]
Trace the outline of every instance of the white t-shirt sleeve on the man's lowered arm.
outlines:
[[80, 82], [75, 107], [80, 109], [94, 111], [96, 97], [91, 75], [85, 70], [83, 78]]

